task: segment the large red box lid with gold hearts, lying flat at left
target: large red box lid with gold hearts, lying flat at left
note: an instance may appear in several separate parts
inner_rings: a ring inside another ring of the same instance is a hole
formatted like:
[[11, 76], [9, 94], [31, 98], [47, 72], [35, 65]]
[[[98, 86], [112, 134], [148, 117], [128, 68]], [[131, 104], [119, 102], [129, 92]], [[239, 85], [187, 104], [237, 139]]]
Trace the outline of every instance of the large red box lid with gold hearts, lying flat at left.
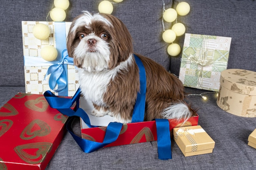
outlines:
[[45, 169], [63, 138], [66, 121], [43, 95], [15, 95], [0, 108], [0, 169]]

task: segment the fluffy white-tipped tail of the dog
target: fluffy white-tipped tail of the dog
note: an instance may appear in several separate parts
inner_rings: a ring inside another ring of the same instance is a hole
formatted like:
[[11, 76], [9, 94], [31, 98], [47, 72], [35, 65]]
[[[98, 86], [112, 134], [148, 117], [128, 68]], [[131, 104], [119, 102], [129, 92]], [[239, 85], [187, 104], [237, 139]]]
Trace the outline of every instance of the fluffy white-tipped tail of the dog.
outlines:
[[165, 108], [161, 115], [164, 119], [184, 119], [184, 123], [195, 113], [195, 111], [184, 101], [172, 103]]

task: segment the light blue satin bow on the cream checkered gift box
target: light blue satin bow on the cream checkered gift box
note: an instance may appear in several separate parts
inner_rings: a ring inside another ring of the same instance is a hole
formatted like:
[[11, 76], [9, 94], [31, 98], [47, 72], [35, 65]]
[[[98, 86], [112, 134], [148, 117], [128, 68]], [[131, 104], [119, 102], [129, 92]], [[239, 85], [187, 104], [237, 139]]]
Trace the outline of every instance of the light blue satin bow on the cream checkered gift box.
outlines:
[[63, 65], [74, 64], [73, 58], [68, 56], [67, 49], [62, 51], [61, 58], [61, 61], [52, 61], [53, 65], [49, 66], [45, 74], [45, 79], [50, 75], [49, 87], [55, 92], [62, 91], [67, 87], [67, 73]]

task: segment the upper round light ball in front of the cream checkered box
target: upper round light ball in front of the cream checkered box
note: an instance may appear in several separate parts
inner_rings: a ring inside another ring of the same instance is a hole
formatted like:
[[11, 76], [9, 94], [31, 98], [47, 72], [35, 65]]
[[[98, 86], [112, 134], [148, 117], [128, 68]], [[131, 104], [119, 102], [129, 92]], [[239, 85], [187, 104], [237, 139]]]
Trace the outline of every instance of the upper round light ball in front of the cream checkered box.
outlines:
[[33, 35], [39, 40], [45, 40], [50, 35], [50, 29], [45, 24], [36, 24], [32, 29]]

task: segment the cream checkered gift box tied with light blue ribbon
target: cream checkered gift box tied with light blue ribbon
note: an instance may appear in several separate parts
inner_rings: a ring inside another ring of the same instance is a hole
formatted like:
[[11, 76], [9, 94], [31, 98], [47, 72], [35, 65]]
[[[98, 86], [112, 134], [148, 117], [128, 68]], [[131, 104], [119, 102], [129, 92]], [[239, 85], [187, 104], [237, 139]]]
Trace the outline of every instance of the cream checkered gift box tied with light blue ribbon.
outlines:
[[[41, 23], [49, 27], [49, 37], [37, 39], [33, 28]], [[26, 93], [43, 94], [52, 91], [59, 96], [73, 96], [79, 88], [78, 71], [67, 55], [66, 38], [71, 22], [22, 21], [22, 39]], [[58, 52], [54, 61], [41, 57], [41, 49], [53, 46]]]

